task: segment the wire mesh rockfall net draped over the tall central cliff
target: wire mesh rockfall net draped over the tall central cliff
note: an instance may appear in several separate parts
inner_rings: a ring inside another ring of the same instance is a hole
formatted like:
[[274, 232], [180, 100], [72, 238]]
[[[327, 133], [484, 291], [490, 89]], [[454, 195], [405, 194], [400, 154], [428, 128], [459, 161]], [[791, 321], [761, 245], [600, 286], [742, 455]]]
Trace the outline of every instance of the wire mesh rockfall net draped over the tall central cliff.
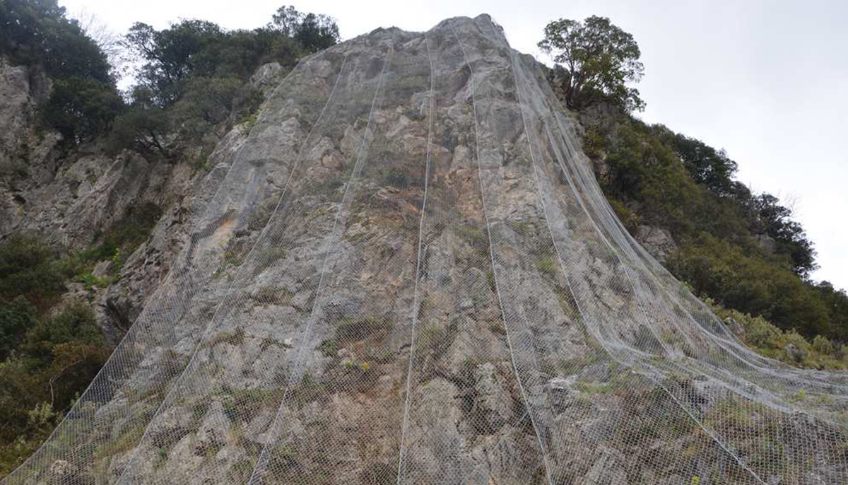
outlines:
[[304, 59], [3, 485], [837, 484], [848, 375], [768, 360], [616, 219], [486, 15]]

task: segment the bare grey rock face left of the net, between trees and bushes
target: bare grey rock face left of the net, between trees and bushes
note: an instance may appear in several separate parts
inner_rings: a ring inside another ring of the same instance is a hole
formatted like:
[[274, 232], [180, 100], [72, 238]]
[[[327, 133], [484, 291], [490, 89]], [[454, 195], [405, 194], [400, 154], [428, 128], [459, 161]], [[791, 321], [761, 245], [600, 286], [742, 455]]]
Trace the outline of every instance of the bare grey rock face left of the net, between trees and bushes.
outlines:
[[[265, 65], [251, 81], [270, 95], [268, 86], [276, 86], [280, 71], [279, 64]], [[87, 289], [71, 283], [64, 298], [93, 302], [99, 326], [116, 344], [170, 270], [192, 217], [215, 192], [249, 128], [238, 125], [226, 134], [203, 167], [152, 161], [131, 151], [110, 156], [97, 142], [66, 148], [59, 133], [36, 120], [49, 90], [50, 81], [37, 68], [0, 60], [0, 240], [36, 234], [70, 254], [90, 248], [133, 210], [158, 208], [162, 215], [151, 237], [126, 260], [117, 282]], [[104, 262], [94, 275], [108, 271]]]

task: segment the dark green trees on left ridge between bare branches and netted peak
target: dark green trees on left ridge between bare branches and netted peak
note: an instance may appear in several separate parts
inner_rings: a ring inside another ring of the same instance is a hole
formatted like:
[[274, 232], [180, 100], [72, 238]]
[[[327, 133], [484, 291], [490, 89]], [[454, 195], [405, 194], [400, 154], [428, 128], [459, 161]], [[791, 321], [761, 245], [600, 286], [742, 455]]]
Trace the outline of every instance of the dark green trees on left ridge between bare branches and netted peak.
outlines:
[[332, 19], [293, 7], [279, 8], [271, 23], [252, 31], [226, 31], [204, 20], [181, 20], [161, 31], [136, 23], [124, 46], [141, 62], [138, 84], [115, 122], [111, 145], [167, 155], [164, 140], [173, 131], [215, 142], [215, 126], [229, 127], [258, 107], [259, 93], [248, 79], [259, 65], [291, 69], [336, 42]]

